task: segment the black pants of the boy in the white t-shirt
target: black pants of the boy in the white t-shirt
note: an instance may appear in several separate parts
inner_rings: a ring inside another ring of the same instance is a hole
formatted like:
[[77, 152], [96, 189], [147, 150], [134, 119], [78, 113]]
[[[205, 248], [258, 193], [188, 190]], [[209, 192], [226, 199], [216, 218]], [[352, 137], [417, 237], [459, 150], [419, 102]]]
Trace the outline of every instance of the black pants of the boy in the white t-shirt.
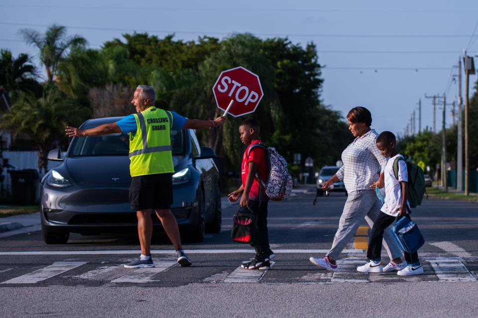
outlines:
[[[407, 214], [405, 217], [410, 218], [410, 215]], [[380, 259], [380, 254], [382, 253], [382, 239], [383, 231], [390, 226], [395, 220], [399, 220], [402, 216], [391, 216], [384, 212], [378, 214], [377, 219], [373, 222], [372, 232], [370, 234], [370, 241], [368, 243], [367, 258], [369, 260]], [[407, 264], [413, 264], [418, 262], [418, 252], [407, 253], [403, 252]]]

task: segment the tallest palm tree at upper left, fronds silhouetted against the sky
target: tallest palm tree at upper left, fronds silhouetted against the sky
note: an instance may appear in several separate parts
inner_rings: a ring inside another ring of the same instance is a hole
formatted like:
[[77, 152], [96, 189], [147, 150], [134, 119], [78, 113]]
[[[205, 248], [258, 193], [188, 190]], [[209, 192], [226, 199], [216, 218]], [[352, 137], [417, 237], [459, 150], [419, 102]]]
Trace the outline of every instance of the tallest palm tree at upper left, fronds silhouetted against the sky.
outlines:
[[66, 27], [52, 24], [45, 34], [32, 29], [21, 29], [20, 34], [26, 44], [33, 44], [40, 51], [40, 61], [45, 66], [48, 82], [53, 82], [58, 70], [58, 63], [66, 51], [75, 46], [84, 46], [87, 41], [79, 36], [66, 36]]

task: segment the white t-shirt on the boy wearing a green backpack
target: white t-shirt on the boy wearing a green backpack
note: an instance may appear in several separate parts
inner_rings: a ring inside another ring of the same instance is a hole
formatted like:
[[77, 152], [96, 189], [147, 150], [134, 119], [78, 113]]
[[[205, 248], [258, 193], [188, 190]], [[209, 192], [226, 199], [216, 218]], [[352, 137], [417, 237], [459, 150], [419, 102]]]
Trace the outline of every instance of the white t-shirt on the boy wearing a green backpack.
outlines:
[[407, 164], [403, 160], [398, 161], [398, 180], [395, 178], [393, 162], [397, 157], [403, 158], [401, 154], [397, 154], [388, 159], [384, 170], [385, 201], [381, 211], [391, 216], [397, 216], [402, 205], [402, 186], [400, 185], [400, 181], [408, 182]]

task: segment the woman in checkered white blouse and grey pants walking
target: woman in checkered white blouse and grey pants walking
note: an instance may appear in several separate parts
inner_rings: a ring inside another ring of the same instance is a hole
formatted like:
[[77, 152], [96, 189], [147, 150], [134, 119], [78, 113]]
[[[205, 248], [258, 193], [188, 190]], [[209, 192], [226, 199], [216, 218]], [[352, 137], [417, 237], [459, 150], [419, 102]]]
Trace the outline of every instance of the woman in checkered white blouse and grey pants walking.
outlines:
[[[332, 272], [337, 270], [335, 260], [352, 240], [363, 218], [372, 227], [373, 221], [379, 215], [382, 204], [375, 193], [375, 187], [379, 184], [377, 172], [380, 168], [383, 171], [387, 164], [387, 159], [380, 154], [376, 145], [378, 133], [370, 128], [372, 123], [370, 111], [365, 107], [354, 107], [348, 112], [347, 121], [348, 129], [355, 139], [342, 152], [343, 166], [323, 184], [322, 189], [327, 190], [335, 182], [343, 180], [348, 198], [340, 216], [332, 247], [325, 257], [309, 259], [314, 265]], [[383, 174], [380, 175], [380, 179], [382, 178]], [[390, 263], [383, 271], [402, 269], [407, 264], [401, 260], [402, 251], [390, 228], [384, 231], [383, 237], [383, 246], [390, 257]]]

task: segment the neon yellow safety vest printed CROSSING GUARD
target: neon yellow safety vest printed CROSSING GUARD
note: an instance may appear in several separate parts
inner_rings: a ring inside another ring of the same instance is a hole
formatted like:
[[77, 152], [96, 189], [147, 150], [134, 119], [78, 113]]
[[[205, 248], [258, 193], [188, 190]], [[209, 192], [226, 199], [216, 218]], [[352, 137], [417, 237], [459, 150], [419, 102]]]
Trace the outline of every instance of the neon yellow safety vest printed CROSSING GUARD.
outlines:
[[131, 176], [174, 172], [171, 112], [151, 106], [134, 116], [138, 128], [136, 134], [130, 132]]

